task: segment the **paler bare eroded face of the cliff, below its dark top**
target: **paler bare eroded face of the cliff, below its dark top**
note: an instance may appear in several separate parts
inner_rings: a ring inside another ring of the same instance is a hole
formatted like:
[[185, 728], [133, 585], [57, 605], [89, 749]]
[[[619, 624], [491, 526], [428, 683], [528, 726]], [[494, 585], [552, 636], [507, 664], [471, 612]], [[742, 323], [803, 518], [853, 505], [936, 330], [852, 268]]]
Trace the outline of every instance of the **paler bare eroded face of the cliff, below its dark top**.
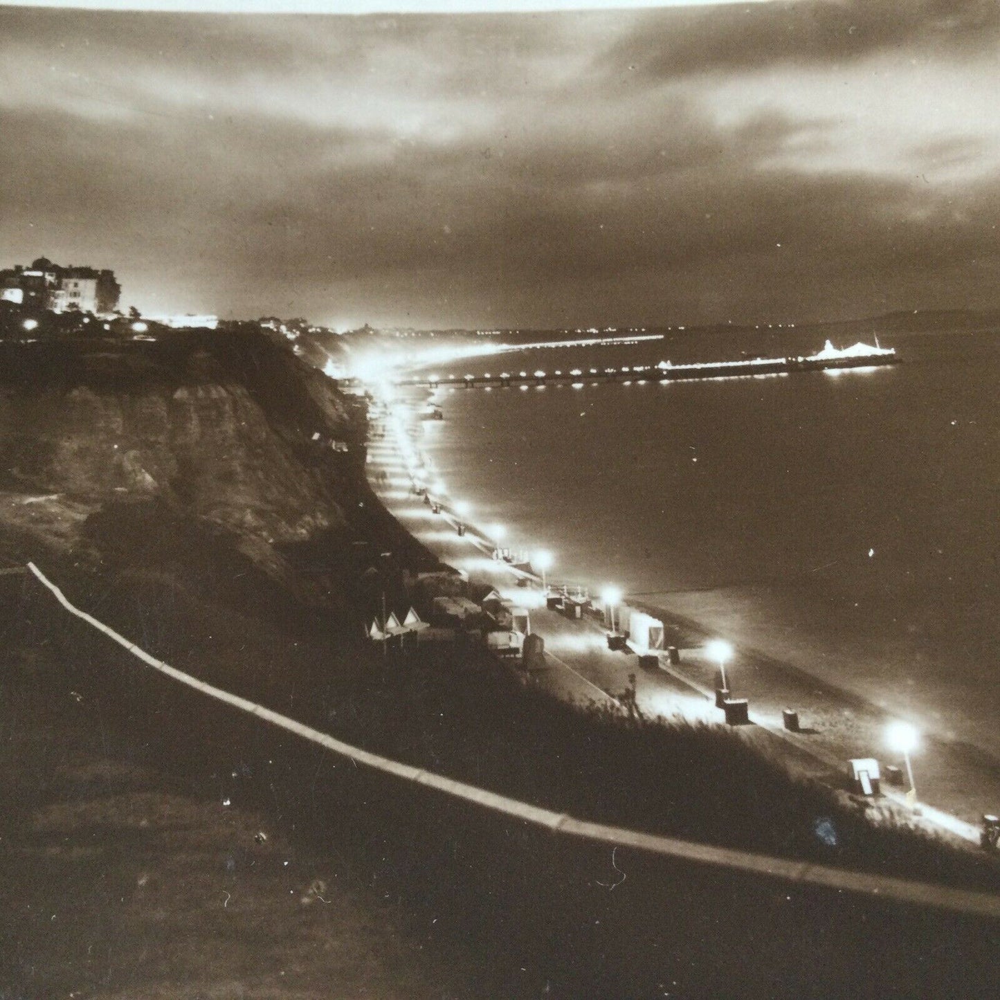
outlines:
[[29, 442], [35, 449], [30, 475], [16, 465], [8, 470], [24, 477], [22, 490], [87, 505], [160, 496], [192, 516], [268, 540], [302, 539], [343, 523], [320, 477], [273, 432], [244, 386], [136, 395], [77, 387], [50, 398], [47, 419], [25, 430], [19, 418], [33, 402], [11, 394], [0, 410], [5, 426], [20, 426], [28, 438], [22, 454]]

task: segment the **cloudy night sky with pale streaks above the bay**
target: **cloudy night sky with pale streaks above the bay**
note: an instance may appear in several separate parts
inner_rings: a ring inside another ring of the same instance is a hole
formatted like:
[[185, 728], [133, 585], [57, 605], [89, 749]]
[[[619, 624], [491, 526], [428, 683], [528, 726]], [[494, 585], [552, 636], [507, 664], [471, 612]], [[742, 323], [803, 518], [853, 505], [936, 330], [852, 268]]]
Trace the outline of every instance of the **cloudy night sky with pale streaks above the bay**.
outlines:
[[1000, 305], [1000, 4], [0, 8], [0, 267], [340, 328]]

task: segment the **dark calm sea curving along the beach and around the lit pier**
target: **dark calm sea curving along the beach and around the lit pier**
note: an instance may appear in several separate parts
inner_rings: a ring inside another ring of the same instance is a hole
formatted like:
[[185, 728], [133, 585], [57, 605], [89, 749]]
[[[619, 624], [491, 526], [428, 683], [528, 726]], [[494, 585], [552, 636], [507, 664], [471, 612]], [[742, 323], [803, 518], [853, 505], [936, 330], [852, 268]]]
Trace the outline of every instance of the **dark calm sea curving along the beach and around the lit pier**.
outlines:
[[[776, 346], [777, 345], [777, 346]], [[811, 352], [796, 335], [521, 351], [461, 372]], [[843, 346], [843, 345], [838, 345]], [[697, 618], [1000, 757], [1000, 337], [839, 374], [441, 392], [425, 447], [553, 576]]]

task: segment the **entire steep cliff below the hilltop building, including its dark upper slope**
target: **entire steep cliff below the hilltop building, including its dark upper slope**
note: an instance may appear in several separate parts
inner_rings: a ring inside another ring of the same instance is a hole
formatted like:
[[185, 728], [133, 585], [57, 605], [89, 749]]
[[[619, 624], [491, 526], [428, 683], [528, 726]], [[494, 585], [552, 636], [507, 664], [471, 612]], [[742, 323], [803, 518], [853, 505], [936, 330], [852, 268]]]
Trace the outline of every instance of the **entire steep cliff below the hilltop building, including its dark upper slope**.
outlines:
[[359, 424], [332, 382], [246, 332], [0, 349], [8, 559], [124, 559], [117, 529], [142, 522], [174, 562], [179, 534], [194, 532], [321, 601], [322, 584], [301, 593], [287, 551], [320, 535], [349, 547], [359, 452], [330, 443], [357, 444]]

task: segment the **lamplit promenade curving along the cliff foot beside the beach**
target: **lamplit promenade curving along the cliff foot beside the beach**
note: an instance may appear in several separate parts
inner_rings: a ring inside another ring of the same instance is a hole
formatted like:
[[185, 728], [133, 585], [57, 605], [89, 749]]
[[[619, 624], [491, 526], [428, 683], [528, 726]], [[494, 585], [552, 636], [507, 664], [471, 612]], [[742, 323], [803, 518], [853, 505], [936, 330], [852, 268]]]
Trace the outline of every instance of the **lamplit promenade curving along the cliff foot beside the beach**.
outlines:
[[[413, 492], [407, 462], [399, 443], [387, 431], [368, 451], [372, 487], [399, 522], [443, 562], [468, 574], [476, 584], [488, 584], [518, 604], [529, 607], [531, 630], [545, 640], [545, 667], [526, 672], [519, 661], [512, 669], [527, 682], [561, 698], [625, 710], [622, 695], [634, 684], [637, 707], [644, 715], [724, 724], [715, 707], [715, 664], [705, 655], [704, 640], [695, 623], [685, 623], [687, 641], [681, 663], [671, 666], [660, 657], [659, 669], [643, 670], [638, 657], [608, 649], [603, 627], [592, 619], [571, 620], [544, 606], [535, 578], [492, 558], [492, 544], [474, 526], [464, 535], [447, 505], [434, 514]], [[522, 581], [525, 582], [525, 581]], [[627, 601], [627, 595], [626, 595]], [[731, 670], [734, 695], [750, 699], [751, 725], [740, 727], [743, 738], [779, 755], [796, 773], [844, 788], [847, 762], [875, 757], [883, 768], [896, 763], [884, 748], [888, 716], [877, 706], [849, 692], [823, 685], [808, 673], [776, 663], [748, 650], [737, 650]], [[790, 733], [782, 724], [782, 709], [800, 711], [803, 731]], [[921, 805], [914, 814], [904, 789], [882, 783], [886, 793], [879, 805], [909, 817], [914, 823], [978, 843], [979, 818], [1000, 811], [998, 762], [964, 744], [928, 738], [914, 760]]]

